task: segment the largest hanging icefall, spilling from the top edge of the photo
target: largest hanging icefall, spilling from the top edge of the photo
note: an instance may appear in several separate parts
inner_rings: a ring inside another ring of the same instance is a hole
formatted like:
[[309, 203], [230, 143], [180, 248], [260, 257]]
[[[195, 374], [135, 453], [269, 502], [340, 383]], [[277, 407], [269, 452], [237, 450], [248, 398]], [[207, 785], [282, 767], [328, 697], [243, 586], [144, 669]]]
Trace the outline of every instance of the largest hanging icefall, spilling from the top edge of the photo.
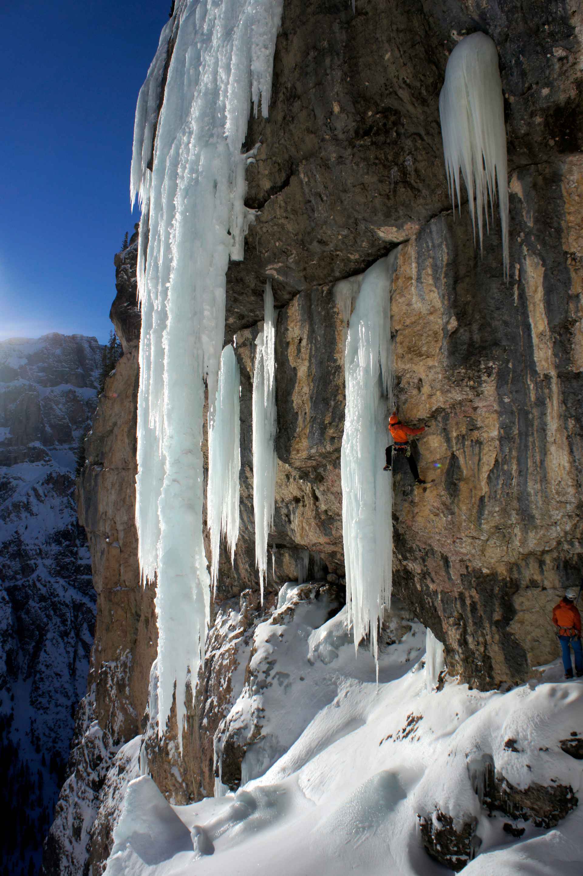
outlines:
[[174, 682], [182, 727], [186, 676], [190, 668], [196, 677], [204, 657], [205, 380], [212, 405], [225, 274], [229, 257], [241, 258], [249, 220], [243, 204], [249, 156], [241, 148], [251, 101], [257, 112], [261, 100], [267, 115], [282, 5], [178, 0], [137, 101], [131, 167], [131, 198], [137, 195], [142, 208], [136, 516], [142, 574], [158, 577], [160, 733]]

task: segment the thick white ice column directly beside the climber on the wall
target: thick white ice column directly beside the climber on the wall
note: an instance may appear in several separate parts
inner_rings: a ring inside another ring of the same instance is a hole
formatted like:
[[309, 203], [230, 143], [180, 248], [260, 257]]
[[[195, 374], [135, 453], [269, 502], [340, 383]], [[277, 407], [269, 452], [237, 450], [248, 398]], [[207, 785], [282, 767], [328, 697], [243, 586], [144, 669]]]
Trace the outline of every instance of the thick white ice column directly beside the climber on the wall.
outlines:
[[348, 624], [354, 626], [355, 647], [370, 633], [375, 654], [392, 572], [392, 476], [383, 464], [387, 410], [392, 409], [390, 285], [397, 252], [362, 275], [344, 357], [341, 477]]

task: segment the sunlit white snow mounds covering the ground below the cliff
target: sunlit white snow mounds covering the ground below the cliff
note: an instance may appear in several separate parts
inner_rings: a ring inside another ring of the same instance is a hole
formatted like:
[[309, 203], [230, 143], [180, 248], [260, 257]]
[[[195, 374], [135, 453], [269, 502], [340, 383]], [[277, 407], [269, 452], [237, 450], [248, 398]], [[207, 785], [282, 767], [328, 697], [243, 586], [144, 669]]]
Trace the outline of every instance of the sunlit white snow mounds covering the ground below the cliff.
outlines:
[[[505, 693], [453, 679], [438, 690], [439, 647], [430, 642], [426, 668], [425, 629], [413, 623], [381, 647], [377, 687], [371, 655], [355, 656], [342, 632], [344, 612], [317, 629], [303, 622], [285, 644], [287, 672], [305, 686], [303, 706], [294, 688], [294, 720], [302, 709], [306, 720], [291, 747], [235, 795], [191, 806], [169, 805], [147, 775], [131, 781], [107, 876], [438, 876], [453, 871], [424, 851], [418, 818], [436, 809], [459, 827], [477, 819], [468, 876], [580, 876], [580, 807], [551, 830], [515, 819], [525, 829], [515, 838], [503, 830], [509, 817], [488, 816], [478, 794], [489, 756], [515, 788], [570, 785], [578, 795], [583, 761], [558, 742], [583, 735], [581, 682], [563, 682], [557, 662]], [[335, 694], [314, 715], [325, 678]], [[272, 713], [271, 728], [277, 720], [289, 722], [289, 711]]]

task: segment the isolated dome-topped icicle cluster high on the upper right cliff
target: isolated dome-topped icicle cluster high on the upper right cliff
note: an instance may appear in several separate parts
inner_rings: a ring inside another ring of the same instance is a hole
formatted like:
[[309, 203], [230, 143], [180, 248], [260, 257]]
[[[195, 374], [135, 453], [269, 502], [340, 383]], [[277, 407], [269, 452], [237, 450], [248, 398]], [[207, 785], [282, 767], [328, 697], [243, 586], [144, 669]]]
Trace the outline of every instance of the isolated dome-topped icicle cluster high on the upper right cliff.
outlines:
[[446, 80], [439, 95], [439, 117], [447, 182], [455, 212], [460, 209], [460, 170], [467, 188], [474, 227], [478, 218], [480, 248], [482, 211], [488, 223], [488, 199], [494, 221], [496, 184], [502, 224], [504, 278], [509, 276], [508, 167], [502, 82], [498, 53], [485, 33], [472, 33], [453, 49], [446, 67]]

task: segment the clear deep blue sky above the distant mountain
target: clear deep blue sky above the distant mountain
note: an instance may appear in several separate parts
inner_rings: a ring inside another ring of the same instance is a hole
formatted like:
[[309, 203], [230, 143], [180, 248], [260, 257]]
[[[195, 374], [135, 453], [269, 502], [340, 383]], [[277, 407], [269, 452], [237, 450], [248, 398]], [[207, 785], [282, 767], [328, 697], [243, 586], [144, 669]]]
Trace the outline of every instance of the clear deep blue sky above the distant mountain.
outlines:
[[170, 0], [0, 0], [0, 340], [109, 336], [137, 93]]

